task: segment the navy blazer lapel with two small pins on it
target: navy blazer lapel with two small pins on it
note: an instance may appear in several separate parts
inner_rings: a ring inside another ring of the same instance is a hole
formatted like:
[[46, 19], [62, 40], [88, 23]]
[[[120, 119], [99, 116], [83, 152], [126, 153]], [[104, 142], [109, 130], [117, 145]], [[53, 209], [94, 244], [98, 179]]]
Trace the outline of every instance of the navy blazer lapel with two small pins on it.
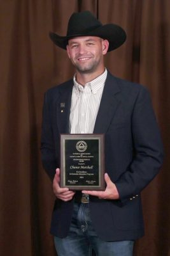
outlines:
[[71, 106], [71, 95], [73, 80], [66, 87], [60, 88], [59, 100], [57, 100], [57, 125], [60, 133], [69, 133], [69, 113]]

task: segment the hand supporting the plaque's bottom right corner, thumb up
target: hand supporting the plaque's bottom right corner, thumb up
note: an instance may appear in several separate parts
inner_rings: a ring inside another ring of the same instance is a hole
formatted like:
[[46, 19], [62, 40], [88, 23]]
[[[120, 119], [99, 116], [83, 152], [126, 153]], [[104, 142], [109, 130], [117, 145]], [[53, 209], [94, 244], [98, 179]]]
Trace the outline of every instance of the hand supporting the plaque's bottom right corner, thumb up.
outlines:
[[118, 195], [117, 187], [111, 181], [108, 173], [104, 174], [104, 180], [106, 182], [106, 189], [104, 191], [83, 190], [82, 193], [92, 195], [92, 196], [98, 196], [100, 199], [110, 199], [110, 200], [118, 199], [119, 195]]

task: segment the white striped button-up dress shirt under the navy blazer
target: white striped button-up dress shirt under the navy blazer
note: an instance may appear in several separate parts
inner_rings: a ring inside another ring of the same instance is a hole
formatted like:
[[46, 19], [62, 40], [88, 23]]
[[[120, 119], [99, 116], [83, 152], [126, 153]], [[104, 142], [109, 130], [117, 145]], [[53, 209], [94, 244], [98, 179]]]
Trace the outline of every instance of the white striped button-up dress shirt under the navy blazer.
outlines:
[[107, 74], [105, 69], [101, 76], [85, 86], [78, 84], [74, 76], [69, 115], [69, 132], [71, 134], [93, 133]]

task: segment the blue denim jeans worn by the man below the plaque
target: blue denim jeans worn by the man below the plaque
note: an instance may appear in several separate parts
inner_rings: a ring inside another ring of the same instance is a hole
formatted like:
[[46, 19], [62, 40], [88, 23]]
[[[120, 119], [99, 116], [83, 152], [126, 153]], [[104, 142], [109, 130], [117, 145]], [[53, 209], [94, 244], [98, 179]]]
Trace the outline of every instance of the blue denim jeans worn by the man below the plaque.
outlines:
[[132, 256], [134, 245], [134, 241], [102, 241], [92, 227], [89, 204], [78, 203], [74, 203], [69, 234], [54, 237], [54, 242], [58, 256]]

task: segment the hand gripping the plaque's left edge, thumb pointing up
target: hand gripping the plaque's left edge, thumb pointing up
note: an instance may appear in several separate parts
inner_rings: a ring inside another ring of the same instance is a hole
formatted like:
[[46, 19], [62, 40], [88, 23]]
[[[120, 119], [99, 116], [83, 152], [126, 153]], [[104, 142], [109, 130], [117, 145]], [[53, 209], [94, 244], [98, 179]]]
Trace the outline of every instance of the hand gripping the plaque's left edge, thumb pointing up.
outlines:
[[60, 188], [60, 169], [56, 169], [55, 177], [53, 178], [53, 193], [62, 201], [69, 201], [73, 198], [75, 191], [68, 188]]

